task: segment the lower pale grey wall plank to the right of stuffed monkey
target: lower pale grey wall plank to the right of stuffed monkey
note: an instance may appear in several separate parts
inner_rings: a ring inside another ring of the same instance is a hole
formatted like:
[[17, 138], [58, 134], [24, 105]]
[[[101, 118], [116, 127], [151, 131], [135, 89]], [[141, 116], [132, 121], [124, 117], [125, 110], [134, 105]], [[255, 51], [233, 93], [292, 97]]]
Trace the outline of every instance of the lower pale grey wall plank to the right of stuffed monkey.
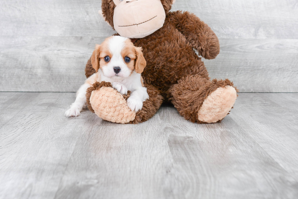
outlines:
[[211, 78], [230, 79], [240, 92], [297, 92], [298, 39], [220, 39]]

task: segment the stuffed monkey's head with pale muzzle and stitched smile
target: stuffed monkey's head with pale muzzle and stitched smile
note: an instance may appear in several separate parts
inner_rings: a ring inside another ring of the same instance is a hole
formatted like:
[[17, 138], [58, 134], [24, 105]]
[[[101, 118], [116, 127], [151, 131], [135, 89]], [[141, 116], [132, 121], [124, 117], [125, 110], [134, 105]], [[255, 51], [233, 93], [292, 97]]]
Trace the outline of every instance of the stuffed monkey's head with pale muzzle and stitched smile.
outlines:
[[102, 0], [99, 14], [122, 37], [142, 38], [161, 28], [175, 0]]

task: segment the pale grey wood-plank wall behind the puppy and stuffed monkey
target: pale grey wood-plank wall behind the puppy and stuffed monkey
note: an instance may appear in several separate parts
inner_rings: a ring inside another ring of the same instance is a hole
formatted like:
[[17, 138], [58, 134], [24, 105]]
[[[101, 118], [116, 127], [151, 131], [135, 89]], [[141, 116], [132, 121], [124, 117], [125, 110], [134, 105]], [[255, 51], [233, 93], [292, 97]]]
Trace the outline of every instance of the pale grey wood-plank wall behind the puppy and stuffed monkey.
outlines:
[[[96, 43], [114, 33], [101, 1], [0, 1], [0, 91], [74, 92]], [[241, 92], [298, 92], [296, 0], [177, 0], [220, 38], [205, 64]]]

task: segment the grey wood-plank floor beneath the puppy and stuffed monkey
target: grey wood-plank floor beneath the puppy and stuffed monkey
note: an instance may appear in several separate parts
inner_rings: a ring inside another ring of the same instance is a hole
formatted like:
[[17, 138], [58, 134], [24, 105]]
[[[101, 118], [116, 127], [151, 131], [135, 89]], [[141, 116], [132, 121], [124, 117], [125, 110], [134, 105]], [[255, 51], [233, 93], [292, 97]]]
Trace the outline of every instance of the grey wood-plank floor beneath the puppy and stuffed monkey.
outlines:
[[0, 92], [0, 198], [298, 198], [298, 93], [240, 93], [208, 125], [66, 118], [74, 98]]

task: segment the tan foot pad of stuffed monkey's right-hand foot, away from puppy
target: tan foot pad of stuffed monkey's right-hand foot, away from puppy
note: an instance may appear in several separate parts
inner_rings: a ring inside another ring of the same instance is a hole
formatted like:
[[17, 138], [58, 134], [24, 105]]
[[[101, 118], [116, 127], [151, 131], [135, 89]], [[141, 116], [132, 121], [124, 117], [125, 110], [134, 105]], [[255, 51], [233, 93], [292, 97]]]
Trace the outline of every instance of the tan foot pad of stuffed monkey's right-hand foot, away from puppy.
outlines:
[[236, 98], [237, 92], [234, 87], [217, 88], [203, 101], [203, 105], [198, 111], [199, 121], [215, 123], [223, 119], [233, 107]]

